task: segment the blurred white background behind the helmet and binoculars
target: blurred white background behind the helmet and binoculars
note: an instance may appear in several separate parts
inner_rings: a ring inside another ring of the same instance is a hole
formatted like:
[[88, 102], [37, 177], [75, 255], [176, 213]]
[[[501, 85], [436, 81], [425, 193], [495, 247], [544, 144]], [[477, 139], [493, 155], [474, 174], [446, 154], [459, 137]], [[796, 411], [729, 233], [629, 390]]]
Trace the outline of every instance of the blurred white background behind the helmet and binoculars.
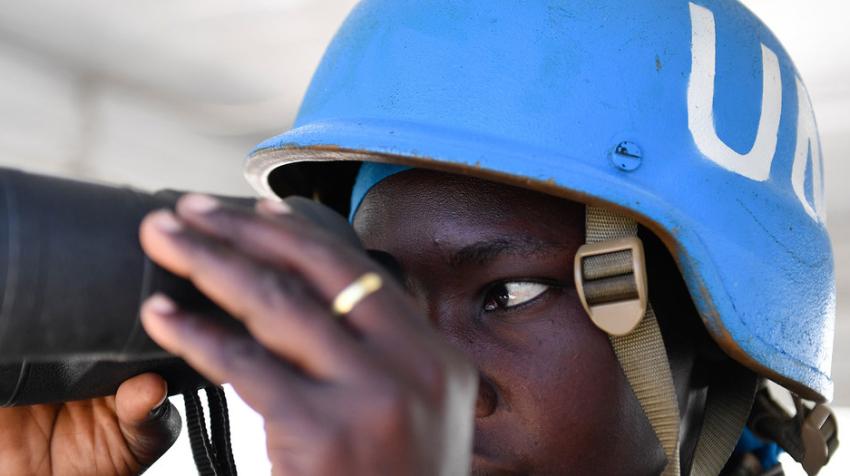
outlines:
[[[0, 166], [251, 194], [245, 154], [292, 123], [354, 3], [0, 0]], [[850, 406], [850, 8], [744, 3], [795, 59], [817, 114], [838, 279], [834, 403]], [[235, 398], [231, 406], [237, 464], [243, 474], [268, 473], [262, 422]], [[840, 415], [850, 428], [850, 409]], [[822, 474], [848, 474], [850, 448], [838, 460]], [[193, 468], [183, 435], [148, 474]]]

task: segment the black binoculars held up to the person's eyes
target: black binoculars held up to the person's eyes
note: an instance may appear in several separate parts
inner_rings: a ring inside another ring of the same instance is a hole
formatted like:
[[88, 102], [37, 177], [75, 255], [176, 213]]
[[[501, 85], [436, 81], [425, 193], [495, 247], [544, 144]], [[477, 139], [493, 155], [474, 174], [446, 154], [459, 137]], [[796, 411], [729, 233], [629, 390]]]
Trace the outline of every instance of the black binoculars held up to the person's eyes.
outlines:
[[[208, 384], [158, 347], [138, 317], [141, 303], [163, 292], [181, 307], [238, 325], [141, 249], [144, 216], [173, 208], [180, 195], [0, 168], [0, 406], [111, 395], [149, 371], [166, 379], [170, 394]], [[287, 203], [360, 246], [336, 212], [304, 198]]]

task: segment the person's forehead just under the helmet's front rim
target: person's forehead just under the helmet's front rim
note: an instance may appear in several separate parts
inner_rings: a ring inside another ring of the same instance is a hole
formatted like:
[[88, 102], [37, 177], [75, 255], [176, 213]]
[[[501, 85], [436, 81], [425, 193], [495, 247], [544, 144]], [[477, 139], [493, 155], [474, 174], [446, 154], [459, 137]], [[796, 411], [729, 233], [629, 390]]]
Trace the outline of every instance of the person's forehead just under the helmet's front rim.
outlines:
[[407, 231], [431, 240], [514, 237], [572, 243], [584, 238], [584, 206], [475, 177], [414, 169], [375, 185], [354, 225], [364, 237]]

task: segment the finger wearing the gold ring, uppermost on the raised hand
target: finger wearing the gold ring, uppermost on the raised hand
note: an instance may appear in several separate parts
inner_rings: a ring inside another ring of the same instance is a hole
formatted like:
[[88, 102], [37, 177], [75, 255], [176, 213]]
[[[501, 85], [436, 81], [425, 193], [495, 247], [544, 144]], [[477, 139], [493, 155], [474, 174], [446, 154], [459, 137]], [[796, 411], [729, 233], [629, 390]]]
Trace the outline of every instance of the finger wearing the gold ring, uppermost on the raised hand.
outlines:
[[[382, 289], [363, 299], [364, 304], [374, 301], [375, 306], [370, 312], [352, 313], [350, 320], [365, 334], [373, 336], [386, 333], [388, 338], [397, 338], [399, 330], [421, 330], [425, 324], [423, 313], [411, 305], [404, 290], [362, 250], [341, 246], [339, 240], [319, 227], [297, 215], [285, 213], [286, 209], [276, 202], [262, 202], [258, 209], [264, 210], [263, 215], [278, 213], [278, 218], [257, 217], [226, 208], [205, 195], [187, 195], [177, 205], [181, 218], [191, 226], [232, 243], [258, 259], [296, 270], [327, 302], [332, 302], [363, 274], [379, 273], [384, 281]], [[403, 309], [410, 315], [380, 312], [382, 308]], [[420, 319], [411, 319], [411, 316]], [[416, 324], [411, 325], [411, 322]]]

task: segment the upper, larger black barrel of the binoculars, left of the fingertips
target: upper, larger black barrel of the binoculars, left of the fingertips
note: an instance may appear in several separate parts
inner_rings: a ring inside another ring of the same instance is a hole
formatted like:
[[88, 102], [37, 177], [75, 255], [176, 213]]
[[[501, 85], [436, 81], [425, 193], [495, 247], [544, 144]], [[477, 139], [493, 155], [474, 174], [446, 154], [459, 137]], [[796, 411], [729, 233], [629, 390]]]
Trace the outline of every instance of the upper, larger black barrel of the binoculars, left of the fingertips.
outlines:
[[165, 357], [136, 317], [174, 279], [138, 229], [176, 198], [0, 171], [0, 362]]

